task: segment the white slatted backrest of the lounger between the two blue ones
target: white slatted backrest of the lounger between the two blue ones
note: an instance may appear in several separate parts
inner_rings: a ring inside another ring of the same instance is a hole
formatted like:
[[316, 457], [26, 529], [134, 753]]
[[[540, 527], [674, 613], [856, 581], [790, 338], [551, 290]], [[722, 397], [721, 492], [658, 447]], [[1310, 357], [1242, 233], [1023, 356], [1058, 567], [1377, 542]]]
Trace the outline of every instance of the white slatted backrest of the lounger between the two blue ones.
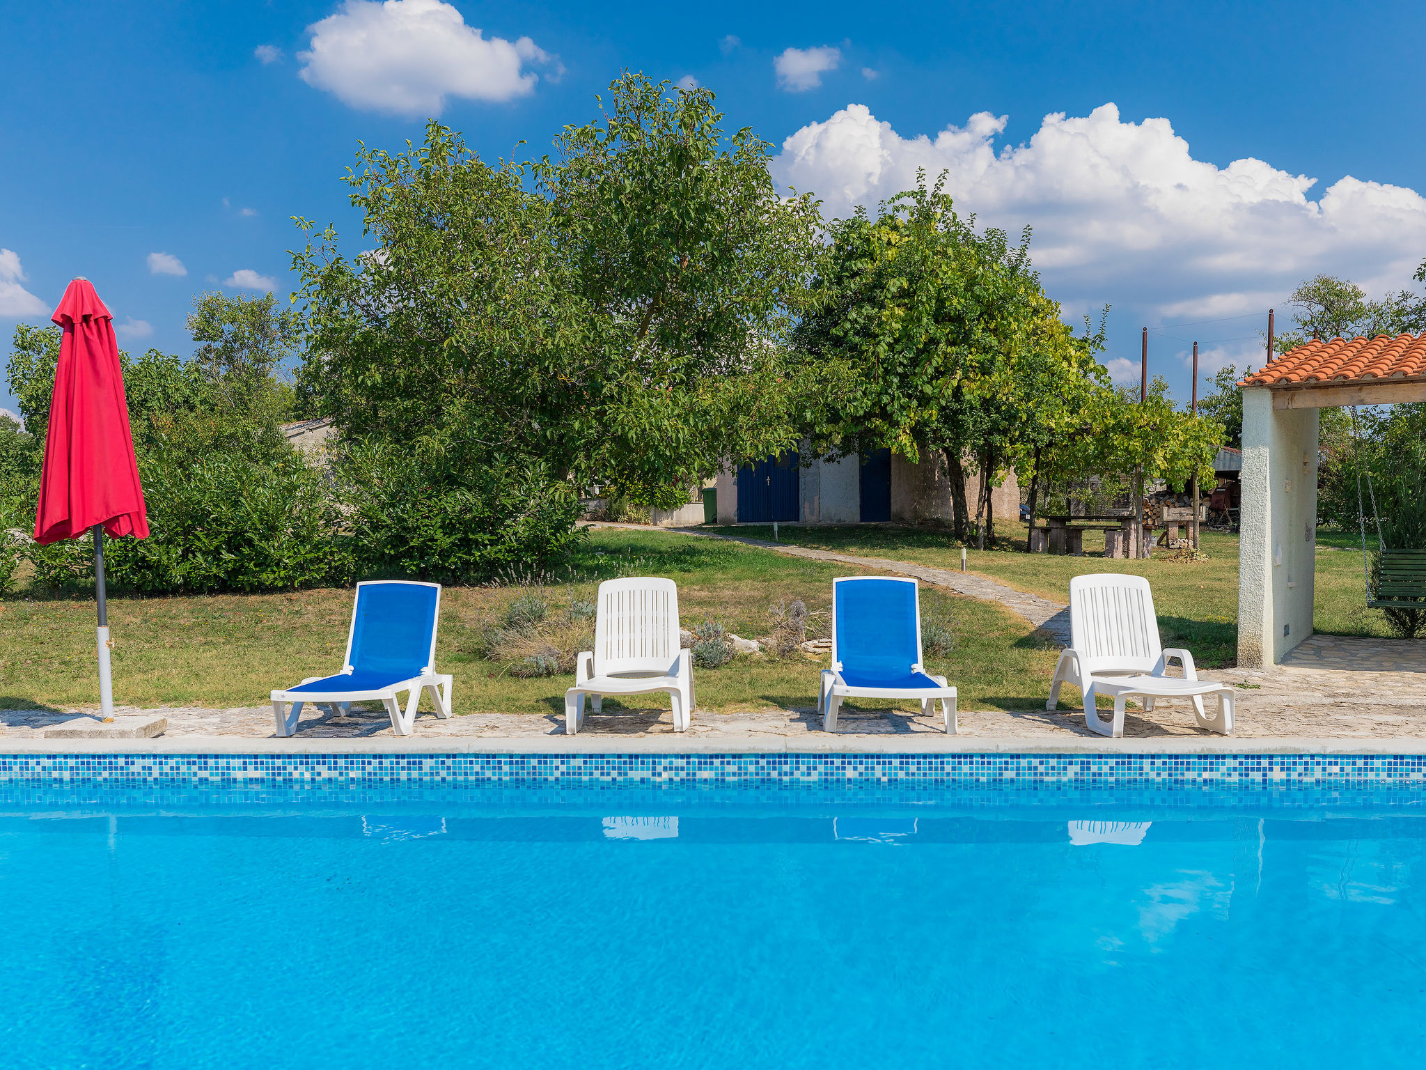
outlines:
[[599, 585], [595, 675], [665, 675], [679, 658], [679, 588], [672, 579], [635, 576]]

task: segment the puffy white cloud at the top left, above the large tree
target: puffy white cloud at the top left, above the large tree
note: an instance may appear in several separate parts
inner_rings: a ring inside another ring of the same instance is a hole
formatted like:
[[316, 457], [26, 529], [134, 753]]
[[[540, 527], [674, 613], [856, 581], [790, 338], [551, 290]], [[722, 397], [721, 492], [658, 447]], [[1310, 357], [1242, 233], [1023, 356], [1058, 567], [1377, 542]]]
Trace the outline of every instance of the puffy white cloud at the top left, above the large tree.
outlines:
[[396, 116], [438, 116], [446, 97], [511, 100], [535, 88], [525, 64], [550, 57], [529, 37], [485, 39], [441, 0], [345, 0], [307, 27], [302, 80], [344, 104]]

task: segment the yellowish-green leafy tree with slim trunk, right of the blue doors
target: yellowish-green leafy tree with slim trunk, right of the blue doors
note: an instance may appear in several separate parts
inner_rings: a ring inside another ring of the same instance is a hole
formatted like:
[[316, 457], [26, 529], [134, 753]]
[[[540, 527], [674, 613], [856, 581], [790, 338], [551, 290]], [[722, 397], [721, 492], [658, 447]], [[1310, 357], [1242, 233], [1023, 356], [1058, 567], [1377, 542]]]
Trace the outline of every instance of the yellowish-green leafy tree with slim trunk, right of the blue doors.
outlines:
[[1011, 455], [1015, 417], [1002, 370], [1044, 327], [1042, 292], [1030, 268], [1030, 234], [1011, 245], [977, 231], [941, 184], [861, 208], [830, 227], [814, 281], [817, 304], [797, 342], [846, 381], [816, 427], [833, 454], [890, 447], [910, 461], [943, 451], [954, 525], [965, 536], [965, 458], [994, 481]]

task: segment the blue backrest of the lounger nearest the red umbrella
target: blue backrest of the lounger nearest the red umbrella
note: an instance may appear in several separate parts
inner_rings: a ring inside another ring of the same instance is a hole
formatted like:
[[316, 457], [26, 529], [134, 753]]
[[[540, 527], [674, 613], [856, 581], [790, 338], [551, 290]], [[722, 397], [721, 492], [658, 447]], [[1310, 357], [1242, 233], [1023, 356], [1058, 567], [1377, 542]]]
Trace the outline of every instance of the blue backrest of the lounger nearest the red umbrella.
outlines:
[[441, 585], [372, 579], [356, 585], [347, 668], [412, 679], [435, 668]]

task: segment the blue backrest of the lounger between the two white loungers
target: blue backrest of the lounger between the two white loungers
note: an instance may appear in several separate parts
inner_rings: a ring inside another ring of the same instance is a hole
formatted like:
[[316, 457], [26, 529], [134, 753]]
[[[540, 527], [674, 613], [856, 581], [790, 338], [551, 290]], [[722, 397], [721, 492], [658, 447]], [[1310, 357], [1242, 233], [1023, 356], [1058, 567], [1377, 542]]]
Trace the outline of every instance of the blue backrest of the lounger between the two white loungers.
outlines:
[[914, 579], [831, 581], [831, 661], [851, 672], [903, 675], [921, 663], [921, 603]]

